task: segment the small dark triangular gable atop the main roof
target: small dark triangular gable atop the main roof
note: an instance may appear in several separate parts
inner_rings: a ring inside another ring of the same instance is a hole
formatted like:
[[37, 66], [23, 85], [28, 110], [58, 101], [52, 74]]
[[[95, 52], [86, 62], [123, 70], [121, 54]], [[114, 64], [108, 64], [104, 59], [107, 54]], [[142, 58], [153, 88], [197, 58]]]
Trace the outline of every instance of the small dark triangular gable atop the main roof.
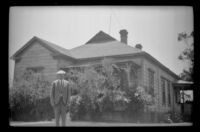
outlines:
[[109, 42], [109, 41], [115, 41], [116, 39], [111, 37], [110, 35], [106, 34], [103, 31], [99, 31], [94, 37], [92, 37], [86, 44], [97, 44], [102, 42]]

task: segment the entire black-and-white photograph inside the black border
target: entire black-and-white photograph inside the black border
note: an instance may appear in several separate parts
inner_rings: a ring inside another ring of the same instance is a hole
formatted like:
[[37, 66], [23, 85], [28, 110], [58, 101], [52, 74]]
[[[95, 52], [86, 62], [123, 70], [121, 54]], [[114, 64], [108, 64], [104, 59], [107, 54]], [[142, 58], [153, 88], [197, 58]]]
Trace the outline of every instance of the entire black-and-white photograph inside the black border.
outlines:
[[13, 6], [10, 126], [192, 126], [192, 6]]

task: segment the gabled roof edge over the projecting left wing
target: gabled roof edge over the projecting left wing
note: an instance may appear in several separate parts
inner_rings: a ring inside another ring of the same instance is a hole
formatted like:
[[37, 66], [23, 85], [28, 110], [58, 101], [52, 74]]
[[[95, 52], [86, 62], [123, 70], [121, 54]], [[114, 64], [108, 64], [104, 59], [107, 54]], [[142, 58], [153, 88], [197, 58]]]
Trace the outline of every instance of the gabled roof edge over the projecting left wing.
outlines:
[[69, 50], [62, 48], [56, 44], [53, 44], [49, 41], [46, 41], [44, 39], [41, 39], [39, 37], [34, 36], [31, 40], [29, 40], [22, 48], [20, 48], [12, 57], [11, 59], [14, 59], [21, 54], [26, 48], [28, 48], [30, 45], [33, 44], [34, 41], [38, 41], [39, 44], [41, 44], [42, 46], [46, 47], [47, 49], [49, 49], [50, 51], [56, 53], [56, 54], [61, 54], [64, 56], [68, 56], [71, 57]]

